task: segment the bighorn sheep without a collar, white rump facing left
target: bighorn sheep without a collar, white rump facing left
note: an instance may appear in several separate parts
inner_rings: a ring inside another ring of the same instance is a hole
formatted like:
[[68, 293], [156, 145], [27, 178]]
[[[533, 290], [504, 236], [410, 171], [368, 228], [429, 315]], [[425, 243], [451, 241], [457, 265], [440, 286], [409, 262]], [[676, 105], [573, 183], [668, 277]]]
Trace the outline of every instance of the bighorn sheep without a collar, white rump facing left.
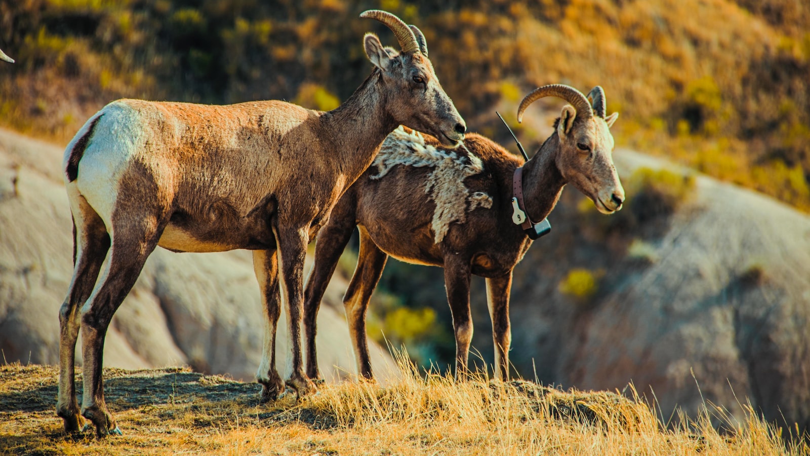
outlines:
[[[64, 166], [75, 270], [59, 312], [57, 404], [66, 431], [78, 431], [87, 418], [100, 436], [120, 433], [104, 404], [104, 334], [157, 246], [175, 252], [254, 250], [267, 322], [258, 368], [265, 401], [284, 387], [275, 368], [280, 271], [292, 364], [286, 383], [298, 394], [313, 390], [303, 369], [300, 330], [309, 239], [399, 124], [429, 131], [447, 147], [460, 144], [466, 130], [427, 52], [420, 50], [418, 29], [385, 11], [360, 17], [386, 24], [402, 51], [383, 47], [367, 33], [365, 52], [374, 69], [335, 110], [306, 110], [283, 101], [211, 106], [119, 100], [92, 116], [70, 141]], [[74, 393], [79, 329], [81, 413]]]

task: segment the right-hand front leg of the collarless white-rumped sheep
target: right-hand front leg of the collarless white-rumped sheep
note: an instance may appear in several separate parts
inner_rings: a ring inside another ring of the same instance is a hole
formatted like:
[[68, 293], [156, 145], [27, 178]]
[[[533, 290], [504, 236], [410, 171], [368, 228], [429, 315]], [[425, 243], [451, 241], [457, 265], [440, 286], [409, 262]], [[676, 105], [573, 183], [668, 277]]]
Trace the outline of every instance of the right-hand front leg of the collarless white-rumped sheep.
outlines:
[[[298, 396], [313, 392], [315, 384], [304, 373], [301, 356], [301, 314], [304, 309], [304, 259], [309, 242], [308, 230], [275, 229], [275, 240], [279, 246], [281, 261], [281, 283], [287, 296], [287, 325], [290, 353], [287, 359], [287, 385], [295, 389]], [[292, 364], [292, 366], [291, 366]]]

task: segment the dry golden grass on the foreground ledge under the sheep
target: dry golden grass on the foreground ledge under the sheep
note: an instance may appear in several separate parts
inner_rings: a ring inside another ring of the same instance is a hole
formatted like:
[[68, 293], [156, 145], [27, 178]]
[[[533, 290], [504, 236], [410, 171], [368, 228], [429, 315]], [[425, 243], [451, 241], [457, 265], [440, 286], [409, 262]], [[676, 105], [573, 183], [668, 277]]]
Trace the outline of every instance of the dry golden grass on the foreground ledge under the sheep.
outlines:
[[[400, 360], [401, 361], [401, 360]], [[257, 403], [258, 385], [183, 368], [108, 369], [107, 400], [124, 437], [66, 436], [54, 413], [57, 370], [0, 368], [0, 454], [810, 454], [748, 408], [721, 435], [704, 415], [667, 429], [637, 398], [527, 381], [422, 376], [325, 385]], [[707, 409], [708, 411], [709, 409]]]

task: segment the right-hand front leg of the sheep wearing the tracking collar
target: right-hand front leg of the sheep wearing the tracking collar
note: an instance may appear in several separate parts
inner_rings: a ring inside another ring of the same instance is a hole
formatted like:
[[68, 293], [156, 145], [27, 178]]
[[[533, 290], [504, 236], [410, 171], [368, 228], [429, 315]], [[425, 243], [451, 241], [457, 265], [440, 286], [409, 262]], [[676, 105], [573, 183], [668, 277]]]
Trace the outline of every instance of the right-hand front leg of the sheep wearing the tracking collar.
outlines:
[[492, 342], [495, 343], [495, 375], [500, 380], [509, 378], [509, 346], [512, 331], [509, 328], [509, 292], [512, 290], [512, 271], [503, 277], [487, 279], [487, 305], [492, 319]]

